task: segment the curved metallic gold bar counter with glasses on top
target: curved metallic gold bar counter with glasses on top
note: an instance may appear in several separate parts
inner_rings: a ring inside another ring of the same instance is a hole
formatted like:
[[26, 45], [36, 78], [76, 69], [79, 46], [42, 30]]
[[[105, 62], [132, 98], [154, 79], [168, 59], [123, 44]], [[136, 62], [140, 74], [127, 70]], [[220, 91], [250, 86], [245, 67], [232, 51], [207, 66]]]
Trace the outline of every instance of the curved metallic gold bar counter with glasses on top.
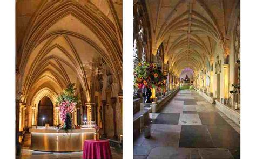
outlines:
[[93, 139], [94, 128], [65, 130], [50, 127], [32, 128], [31, 150], [70, 152], [83, 151], [84, 140]]

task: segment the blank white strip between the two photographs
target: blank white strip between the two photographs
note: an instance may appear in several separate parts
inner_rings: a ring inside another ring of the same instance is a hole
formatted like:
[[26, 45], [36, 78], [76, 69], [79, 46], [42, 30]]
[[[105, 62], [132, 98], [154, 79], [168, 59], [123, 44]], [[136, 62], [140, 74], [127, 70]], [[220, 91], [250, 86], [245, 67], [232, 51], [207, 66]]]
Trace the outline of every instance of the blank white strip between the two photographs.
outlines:
[[123, 0], [123, 158], [133, 158], [133, 1]]

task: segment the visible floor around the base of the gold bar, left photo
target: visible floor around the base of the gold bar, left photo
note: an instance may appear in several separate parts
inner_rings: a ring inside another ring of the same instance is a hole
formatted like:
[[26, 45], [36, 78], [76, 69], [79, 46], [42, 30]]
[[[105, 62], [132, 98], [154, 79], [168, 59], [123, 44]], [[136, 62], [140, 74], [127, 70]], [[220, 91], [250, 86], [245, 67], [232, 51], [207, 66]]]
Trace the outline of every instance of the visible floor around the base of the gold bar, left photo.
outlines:
[[[52, 152], [41, 152], [30, 150], [30, 134], [27, 134], [21, 149], [21, 156], [16, 159], [46, 159], [46, 158], [65, 158], [65, 159], [80, 159], [83, 156], [83, 152], [72, 152], [72, 153], [52, 153]], [[122, 153], [111, 148], [112, 158], [122, 158]]]

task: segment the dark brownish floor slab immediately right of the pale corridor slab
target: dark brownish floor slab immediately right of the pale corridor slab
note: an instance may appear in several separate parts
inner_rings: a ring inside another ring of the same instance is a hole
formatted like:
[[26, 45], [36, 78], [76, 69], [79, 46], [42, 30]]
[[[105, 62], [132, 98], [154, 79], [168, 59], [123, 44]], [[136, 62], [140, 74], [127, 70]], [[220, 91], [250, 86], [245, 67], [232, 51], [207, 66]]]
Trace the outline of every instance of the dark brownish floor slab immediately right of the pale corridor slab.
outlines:
[[198, 113], [203, 125], [227, 125], [217, 112]]

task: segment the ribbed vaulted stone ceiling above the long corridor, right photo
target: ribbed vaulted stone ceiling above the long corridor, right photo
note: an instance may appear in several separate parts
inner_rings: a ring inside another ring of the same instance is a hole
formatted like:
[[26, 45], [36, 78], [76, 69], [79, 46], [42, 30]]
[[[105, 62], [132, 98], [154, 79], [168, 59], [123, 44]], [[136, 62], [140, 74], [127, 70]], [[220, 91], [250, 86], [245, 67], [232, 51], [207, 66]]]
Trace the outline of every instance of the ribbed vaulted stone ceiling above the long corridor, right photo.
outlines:
[[153, 54], [164, 42], [165, 63], [180, 74], [198, 71], [213, 60], [213, 48], [225, 50], [237, 0], [147, 0]]

